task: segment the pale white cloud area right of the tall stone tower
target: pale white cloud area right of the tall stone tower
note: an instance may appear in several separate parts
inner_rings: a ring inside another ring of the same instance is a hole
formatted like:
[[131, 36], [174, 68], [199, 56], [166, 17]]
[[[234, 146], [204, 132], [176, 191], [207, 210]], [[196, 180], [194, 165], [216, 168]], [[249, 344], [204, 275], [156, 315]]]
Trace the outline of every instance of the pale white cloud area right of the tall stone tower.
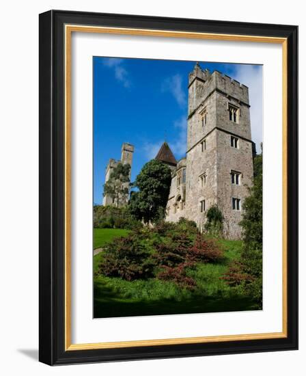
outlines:
[[249, 88], [252, 140], [257, 152], [261, 152], [262, 140], [262, 66], [241, 64], [231, 77]]

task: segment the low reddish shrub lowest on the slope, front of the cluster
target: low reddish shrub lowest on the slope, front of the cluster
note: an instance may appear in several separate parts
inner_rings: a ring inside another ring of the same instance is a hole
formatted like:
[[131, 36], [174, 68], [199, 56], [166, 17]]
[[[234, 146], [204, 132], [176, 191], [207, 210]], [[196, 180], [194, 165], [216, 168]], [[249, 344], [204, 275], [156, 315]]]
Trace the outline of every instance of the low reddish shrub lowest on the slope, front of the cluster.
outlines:
[[163, 271], [158, 273], [157, 278], [159, 280], [174, 282], [180, 287], [193, 290], [197, 284], [193, 278], [186, 275], [186, 269], [192, 266], [192, 263], [182, 263], [177, 267], [164, 267]]

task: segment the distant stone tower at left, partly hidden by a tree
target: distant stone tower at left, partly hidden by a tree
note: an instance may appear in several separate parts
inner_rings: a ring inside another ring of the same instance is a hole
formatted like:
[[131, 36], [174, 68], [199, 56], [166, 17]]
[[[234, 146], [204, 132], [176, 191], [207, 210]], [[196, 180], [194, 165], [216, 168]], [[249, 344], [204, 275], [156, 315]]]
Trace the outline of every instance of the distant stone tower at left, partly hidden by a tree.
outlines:
[[[124, 142], [122, 144], [121, 148], [121, 159], [120, 161], [115, 159], [109, 159], [109, 163], [107, 164], [106, 172], [105, 172], [105, 183], [109, 180], [111, 176], [111, 172], [113, 172], [113, 169], [117, 167], [118, 163], [122, 163], [123, 165], [126, 165], [127, 163], [130, 165], [130, 174], [132, 170], [132, 163], [133, 163], [133, 153], [134, 153], [134, 146], [131, 144], [128, 144], [127, 142]], [[124, 183], [123, 186], [129, 187], [129, 183]], [[113, 197], [109, 195], [105, 195], [103, 197], [103, 205], [115, 205], [117, 204]], [[119, 202], [119, 206], [124, 206], [128, 204], [128, 198], [122, 199]]]

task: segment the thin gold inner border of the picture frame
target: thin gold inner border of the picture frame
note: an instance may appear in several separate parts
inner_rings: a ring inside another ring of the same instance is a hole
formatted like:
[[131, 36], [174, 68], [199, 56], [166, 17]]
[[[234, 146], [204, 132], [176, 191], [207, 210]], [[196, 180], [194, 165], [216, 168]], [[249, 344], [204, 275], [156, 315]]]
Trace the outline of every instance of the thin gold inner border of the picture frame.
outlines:
[[[159, 36], [166, 38], [195, 38], [206, 40], [225, 40], [237, 42], [264, 42], [282, 44], [282, 204], [283, 204], [283, 237], [282, 237], [282, 313], [283, 330], [274, 333], [260, 334], [234, 334], [227, 336], [201, 336], [188, 338], [166, 338], [154, 340], [131, 340], [122, 342], [105, 343], [71, 343], [71, 37], [72, 32], [83, 33], [109, 33], [135, 36]], [[268, 338], [287, 338], [288, 336], [288, 265], [287, 265], [287, 172], [288, 172], [288, 147], [287, 147], [287, 114], [288, 114], [288, 41], [287, 38], [266, 36], [243, 36], [235, 34], [200, 33], [189, 31], [171, 31], [154, 29], [133, 29], [122, 27], [97, 27], [85, 25], [65, 25], [65, 351], [89, 349], [114, 349], [123, 347], [143, 347], [161, 345], [179, 345], [192, 343], [216, 343], [235, 340], [260, 340]]]

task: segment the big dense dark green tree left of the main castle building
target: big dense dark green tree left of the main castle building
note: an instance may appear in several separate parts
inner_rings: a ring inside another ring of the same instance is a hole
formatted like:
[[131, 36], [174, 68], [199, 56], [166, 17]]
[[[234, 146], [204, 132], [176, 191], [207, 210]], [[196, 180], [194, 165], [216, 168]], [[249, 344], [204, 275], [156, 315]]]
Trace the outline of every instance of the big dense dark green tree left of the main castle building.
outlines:
[[145, 163], [137, 176], [130, 197], [130, 213], [137, 219], [157, 221], [164, 217], [171, 185], [171, 170], [165, 163], [152, 159]]

